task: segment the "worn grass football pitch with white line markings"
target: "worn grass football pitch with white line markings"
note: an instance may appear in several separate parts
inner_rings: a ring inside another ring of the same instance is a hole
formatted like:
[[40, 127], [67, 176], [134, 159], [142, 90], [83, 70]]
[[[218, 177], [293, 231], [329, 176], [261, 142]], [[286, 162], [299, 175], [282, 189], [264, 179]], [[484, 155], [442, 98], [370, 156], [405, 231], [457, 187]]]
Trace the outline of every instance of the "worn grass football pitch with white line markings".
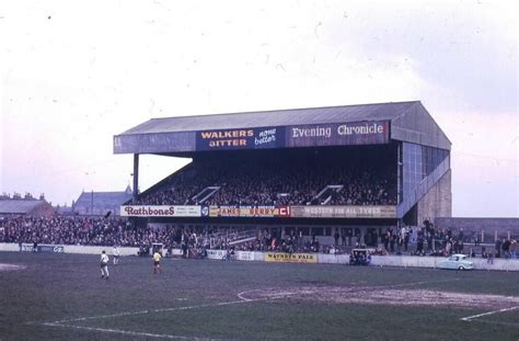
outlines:
[[[519, 340], [519, 273], [0, 252], [0, 340]], [[18, 266], [10, 266], [18, 265]]]

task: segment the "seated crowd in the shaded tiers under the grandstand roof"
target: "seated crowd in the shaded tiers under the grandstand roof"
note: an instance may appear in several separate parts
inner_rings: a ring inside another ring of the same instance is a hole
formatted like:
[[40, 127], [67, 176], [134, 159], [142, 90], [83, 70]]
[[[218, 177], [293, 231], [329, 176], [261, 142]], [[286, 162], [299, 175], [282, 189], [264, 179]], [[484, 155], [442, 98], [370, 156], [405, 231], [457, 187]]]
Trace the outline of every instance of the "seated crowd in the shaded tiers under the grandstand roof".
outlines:
[[[215, 193], [197, 196], [209, 186]], [[393, 172], [369, 162], [353, 168], [331, 159], [209, 159], [170, 175], [137, 204], [395, 205], [395, 187]]]

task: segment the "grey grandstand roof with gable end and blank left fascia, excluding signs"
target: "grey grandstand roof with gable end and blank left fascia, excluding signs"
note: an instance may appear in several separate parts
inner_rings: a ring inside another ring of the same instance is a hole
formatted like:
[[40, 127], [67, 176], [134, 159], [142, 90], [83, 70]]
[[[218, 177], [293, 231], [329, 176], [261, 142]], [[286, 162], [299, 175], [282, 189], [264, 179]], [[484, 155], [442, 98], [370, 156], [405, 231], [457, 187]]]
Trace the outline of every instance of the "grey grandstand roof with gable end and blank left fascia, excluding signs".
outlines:
[[[419, 101], [152, 118], [114, 136], [114, 154], [186, 157], [198, 149], [197, 132], [390, 122], [390, 139], [451, 149], [451, 143]], [[281, 137], [282, 139], [282, 137]], [[288, 140], [288, 138], [287, 138]], [[285, 147], [289, 147], [288, 144]], [[281, 147], [281, 148], [285, 148]]]

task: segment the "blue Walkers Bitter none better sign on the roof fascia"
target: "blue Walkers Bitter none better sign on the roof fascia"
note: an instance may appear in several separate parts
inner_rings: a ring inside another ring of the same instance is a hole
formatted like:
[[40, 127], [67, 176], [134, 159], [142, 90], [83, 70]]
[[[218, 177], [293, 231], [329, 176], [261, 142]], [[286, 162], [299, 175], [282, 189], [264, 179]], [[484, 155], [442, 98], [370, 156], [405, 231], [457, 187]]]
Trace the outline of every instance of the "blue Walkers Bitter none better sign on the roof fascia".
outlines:
[[284, 129], [280, 127], [196, 133], [197, 150], [264, 149], [280, 148], [282, 145]]

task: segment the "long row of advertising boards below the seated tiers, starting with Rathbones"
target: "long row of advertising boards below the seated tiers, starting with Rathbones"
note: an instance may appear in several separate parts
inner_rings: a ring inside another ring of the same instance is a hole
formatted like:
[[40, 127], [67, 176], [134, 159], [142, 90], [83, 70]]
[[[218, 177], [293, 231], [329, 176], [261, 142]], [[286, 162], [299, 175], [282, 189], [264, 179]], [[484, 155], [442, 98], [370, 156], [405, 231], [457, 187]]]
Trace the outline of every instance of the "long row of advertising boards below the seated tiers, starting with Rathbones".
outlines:
[[396, 206], [120, 206], [124, 217], [396, 218]]

